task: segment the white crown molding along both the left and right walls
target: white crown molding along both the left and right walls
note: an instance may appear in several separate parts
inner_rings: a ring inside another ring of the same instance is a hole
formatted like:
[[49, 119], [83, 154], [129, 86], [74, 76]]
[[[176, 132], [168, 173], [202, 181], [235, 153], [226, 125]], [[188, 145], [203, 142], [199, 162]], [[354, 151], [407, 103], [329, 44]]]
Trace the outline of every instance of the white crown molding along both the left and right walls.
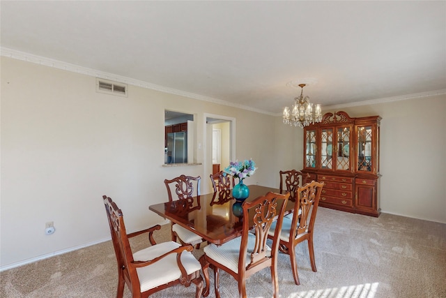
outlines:
[[[197, 100], [207, 101], [210, 103], [217, 103], [219, 105], [236, 107], [238, 109], [257, 112], [260, 114], [268, 114], [270, 116], [281, 116], [282, 117], [282, 112], [280, 112], [280, 113], [266, 112], [264, 110], [255, 109], [254, 107], [248, 107], [246, 105], [239, 105], [237, 103], [230, 103], [229, 101], [226, 101], [226, 100], [221, 100], [218, 98], [202, 96], [200, 94], [194, 94], [194, 93], [187, 92], [187, 91], [164, 87], [164, 86], [160, 86], [157, 84], [152, 84], [150, 82], [144, 82], [141, 80], [132, 79], [130, 77], [123, 77], [121, 75], [115, 75], [113, 73], [105, 73], [100, 70], [94, 70], [94, 69], [86, 68], [83, 66], [77, 66], [75, 64], [69, 64], [69, 63], [66, 63], [63, 61], [58, 61], [58, 60], [54, 60], [54, 59], [50, 59], [50, 58], [46, 58], [46, 57], [40, 57], [40, 56], [36, 56], [36, 55], [29, 54], [26, 52], [12, 50], [7, 47], [0, 47], [0, 54], [1, 54], [1, 56], [4, 56], [4, 57], [27, 61], [27, 62], [31, 62], [31, 63], [35, 63], [35, 64], [40, 64], [43, 66], [59, 68], [62, 70], [68, 70], [73, 73], [80, 73], [82, 75], [89, 75], [91, 77], [100, 77], [101, 79], [122, 82], [125, 84], [137, 86], [137, 87], [142, 87], [142, 88], [151, 89], [151, 90], [155, 90], [155, 91], [161, 91], [161, 92], [164, 92], [167, 94], [174, 94], [174, 95], [178, 95], [178, 96], [184, 96], [187, 98], [193, 98], [193, 99], [197, 99]], [[374, 105], [376, 103], [390, 103], [392, 101], [407, 100], [407, 99], [413, 99], [413, 98], [423, 98], [423, 97], [437, 96], [437, 95], [443, 95], [443, 94], [446, 94], [446, 89], [441, 89], [441, 90], [436, 90], [436, 91], [426, 91], [426, 92], [421, 92], [421, 93], [417, 93], [417, 94], [406, 94], [406, 95], [401, 95], [401, 96], [392, 96], [392, 97], [387, 97], [387, 98], [377, 98], [377, 99], [359, 101], [356, 103], [343, 103], [340, 105], [329, 105], [329, 106], [324, 106], [323, 108], [325, 110], [337, 110], [337, 109], [341, 109], [344, 107], [358, 107], [361, 105]]]

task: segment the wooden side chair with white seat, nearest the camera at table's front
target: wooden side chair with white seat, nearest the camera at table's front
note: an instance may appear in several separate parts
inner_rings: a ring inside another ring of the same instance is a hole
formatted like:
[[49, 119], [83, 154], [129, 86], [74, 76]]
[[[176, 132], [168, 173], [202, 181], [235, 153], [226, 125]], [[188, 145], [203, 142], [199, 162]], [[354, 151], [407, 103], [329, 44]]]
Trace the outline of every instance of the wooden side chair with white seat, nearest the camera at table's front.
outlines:
[[215, 297], [220, 297], [219, 270], [231, 274], [238, 282], [240, 297], [246, 297], [246, 280], [252, 274], [270, 267], [274, 297], [279, 297], [279, 282], [277, 279], [277, 250], [279, 237], [272, 240], [272, 246], [266, 244], [268, 231], [275, 217], [278, 216], [277, 235], [282, 228], [282, 219], [288, 202], [289, 193], [267, 193], [252, 202], [242, 204], [242, 234], [222, 245], [208, 244], [203, 248], [204, 254], [200, 258], [206, 288], [203, 296], [209, 294], [208, 268], [214, 270]]

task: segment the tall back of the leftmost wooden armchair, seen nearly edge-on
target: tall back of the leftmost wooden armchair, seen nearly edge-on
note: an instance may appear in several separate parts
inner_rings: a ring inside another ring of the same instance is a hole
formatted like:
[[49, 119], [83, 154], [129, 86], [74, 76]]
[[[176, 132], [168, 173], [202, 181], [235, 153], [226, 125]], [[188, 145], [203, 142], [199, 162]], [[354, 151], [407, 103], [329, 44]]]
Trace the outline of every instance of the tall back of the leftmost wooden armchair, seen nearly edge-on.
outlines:
[[[115, 202], [107, 195], [102, 196], [109, 220], [110, 232], [112, 233], [112, 241], [116, 261], [118, 262], [118, 271], [121, 271], [125, 281], [132, 292], [139, 292], [140, 284], [137, 271], [134, 267], [129, 266], [133, 262], [132, 249], [128, 241], [127, 232], [125, 232], [123, 212], [116, 206]], [[130, 286], [131, 285], [131, 286]]]

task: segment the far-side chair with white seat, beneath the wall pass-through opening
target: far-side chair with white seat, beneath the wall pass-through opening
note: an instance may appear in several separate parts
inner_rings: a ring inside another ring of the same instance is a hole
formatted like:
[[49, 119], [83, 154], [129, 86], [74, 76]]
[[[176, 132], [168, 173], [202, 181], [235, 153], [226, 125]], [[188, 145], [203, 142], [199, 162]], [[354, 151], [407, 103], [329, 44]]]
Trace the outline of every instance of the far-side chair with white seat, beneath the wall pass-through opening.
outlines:
[[[171, 180], [164, 179], [169, 202], [181, 200], [185, 204], [193, 204], [194, 197], [200, 195], [200, 181], [201, 177], [186, 176], [184, 174]], [[175, 191], [175, 196], [172, 195], [172, 191]], [[171, 234], [172, 241], [178, 239], [181, 244], [192, 244], [196, 248], [199, 248], [201, 242], [204, 241], [201, 236], [183, 228], [177, 223], [171, 223]]]

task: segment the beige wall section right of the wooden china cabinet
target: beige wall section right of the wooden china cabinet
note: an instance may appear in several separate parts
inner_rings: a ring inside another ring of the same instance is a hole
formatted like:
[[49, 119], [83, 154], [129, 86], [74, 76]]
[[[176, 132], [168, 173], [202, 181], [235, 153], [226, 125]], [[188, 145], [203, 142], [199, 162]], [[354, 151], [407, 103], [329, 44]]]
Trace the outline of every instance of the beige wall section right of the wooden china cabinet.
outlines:
[[382, 211], [446, 223], [446, 95], [341, 110], [383, 117]]

